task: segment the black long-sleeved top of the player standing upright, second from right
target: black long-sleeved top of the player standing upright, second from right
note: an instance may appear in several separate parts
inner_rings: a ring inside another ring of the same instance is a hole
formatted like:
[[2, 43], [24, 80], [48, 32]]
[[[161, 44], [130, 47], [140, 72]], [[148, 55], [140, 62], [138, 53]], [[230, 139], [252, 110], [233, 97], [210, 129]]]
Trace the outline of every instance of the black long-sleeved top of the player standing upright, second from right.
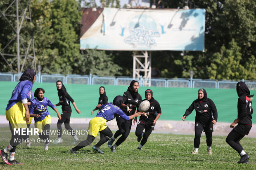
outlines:
[[195, 122], [201, 123], [204, 126], [212, 124], [213, 120], [218, 119], [218, 112], [214, 102], [207, 98], [205, 101], [194, 100], [190, 107], [186, 110], [183, 116], [188, 116], [195, 109], [196, 119]]

